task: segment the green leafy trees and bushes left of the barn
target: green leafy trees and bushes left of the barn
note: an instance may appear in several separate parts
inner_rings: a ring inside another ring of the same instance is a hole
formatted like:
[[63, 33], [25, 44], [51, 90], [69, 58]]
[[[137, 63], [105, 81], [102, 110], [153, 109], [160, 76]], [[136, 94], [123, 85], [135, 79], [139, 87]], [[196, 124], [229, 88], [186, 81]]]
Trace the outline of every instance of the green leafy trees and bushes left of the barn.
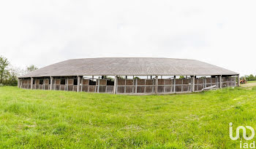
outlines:
[[0, 55], [0, 86], [16, 86], [18, 76], [37, 70], [35, 65], [29, 65], [25, 69], [16, 68], [10, 64], [6, 57]]

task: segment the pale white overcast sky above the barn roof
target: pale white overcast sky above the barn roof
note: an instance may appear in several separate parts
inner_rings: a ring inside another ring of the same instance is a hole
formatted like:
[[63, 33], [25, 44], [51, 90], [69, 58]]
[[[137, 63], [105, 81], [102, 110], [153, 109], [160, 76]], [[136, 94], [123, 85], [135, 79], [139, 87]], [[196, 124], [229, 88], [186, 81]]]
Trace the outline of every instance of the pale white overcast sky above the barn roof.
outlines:
[[86, 57], [170, 57], [256, 74], [255, 7], [254, 1], [0, 1], [0, 55], [21, 68]]

